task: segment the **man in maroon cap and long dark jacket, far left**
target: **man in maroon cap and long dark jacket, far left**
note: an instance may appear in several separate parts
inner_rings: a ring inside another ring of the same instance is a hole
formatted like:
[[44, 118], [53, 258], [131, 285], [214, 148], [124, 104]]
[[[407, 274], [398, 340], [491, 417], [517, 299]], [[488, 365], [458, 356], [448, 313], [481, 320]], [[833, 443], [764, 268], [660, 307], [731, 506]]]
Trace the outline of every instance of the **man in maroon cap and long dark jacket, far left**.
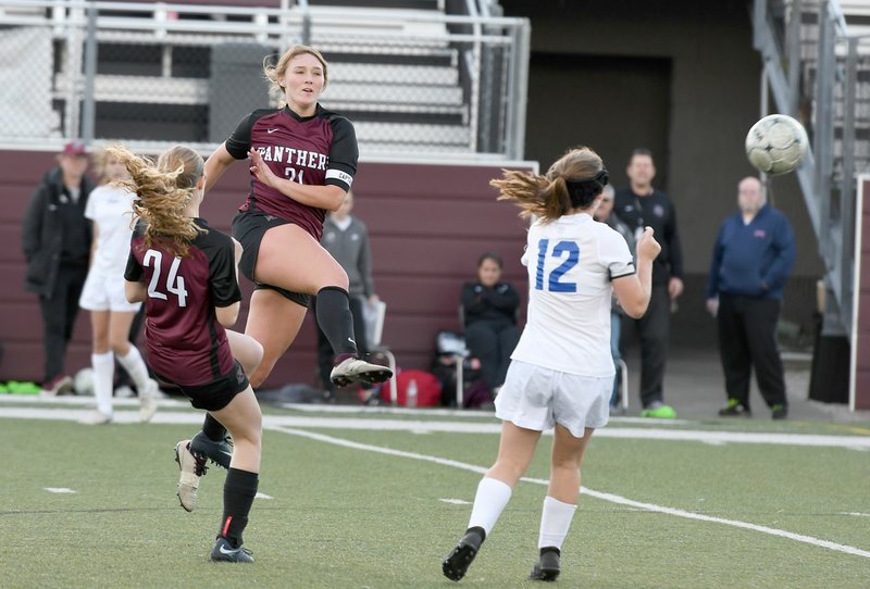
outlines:
[[42, 312], [42, 390], [49, 394], [72, 389], [65, 374], [66, 346], [88, 272], [91, 227], [85, 205], [94, 189], [85, 176], [88, 155], [83, 143], [67, 143], [58, 164], [30, 197], [22, 230], [25, 288], [39, 296]]

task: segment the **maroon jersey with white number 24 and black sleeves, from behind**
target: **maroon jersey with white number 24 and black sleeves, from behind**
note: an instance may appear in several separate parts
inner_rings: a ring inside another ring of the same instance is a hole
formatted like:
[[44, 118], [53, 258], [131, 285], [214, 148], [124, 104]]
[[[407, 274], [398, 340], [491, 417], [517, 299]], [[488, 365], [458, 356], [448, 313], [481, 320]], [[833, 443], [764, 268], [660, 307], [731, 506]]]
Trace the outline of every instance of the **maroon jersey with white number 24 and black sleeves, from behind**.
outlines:
[[148, 364], [176, 385], [204, 385], [227, 374], [233, 354], [226, 331], [217, 323], [215, 306], [241, 300], [236, 279], [233, 240], [207, 229], [190, 243], [188, 254], [176, 258], [154, 242], [145, 248], [139, 224], [130, 240], [124, 278], [144, 281], [145, 340]]

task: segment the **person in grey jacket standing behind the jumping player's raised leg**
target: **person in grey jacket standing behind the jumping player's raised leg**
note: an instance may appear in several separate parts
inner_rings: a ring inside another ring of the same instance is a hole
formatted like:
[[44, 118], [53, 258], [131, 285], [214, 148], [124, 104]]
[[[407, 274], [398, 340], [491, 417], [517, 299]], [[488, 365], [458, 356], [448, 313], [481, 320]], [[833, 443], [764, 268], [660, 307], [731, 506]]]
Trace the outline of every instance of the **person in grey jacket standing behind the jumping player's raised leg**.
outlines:
[[[323, 222], [321, 246], [332, 254], [347, 273], [350, 314], [353, 316], [353, 334], [360, 353], [369, 353], [369, 335], [365, 329], [366, 306], [371, 309], [381, 299], [374, 292], [372, 278], [372, 252], [369, 248], [369, 229], [353, 211], [353, 191], [348, 190], [341, 206], [330, 213]], [[316, 297], [311, 299], [311, 309], [316, 315]], [[326, 398], [335, 394], [335, 385], [330, 380], [333, 369], [333, 347], [320, 325], [318, 328], [318, 366], [326, 389]], [[366, 386], [363, 383], [363, 386]]]

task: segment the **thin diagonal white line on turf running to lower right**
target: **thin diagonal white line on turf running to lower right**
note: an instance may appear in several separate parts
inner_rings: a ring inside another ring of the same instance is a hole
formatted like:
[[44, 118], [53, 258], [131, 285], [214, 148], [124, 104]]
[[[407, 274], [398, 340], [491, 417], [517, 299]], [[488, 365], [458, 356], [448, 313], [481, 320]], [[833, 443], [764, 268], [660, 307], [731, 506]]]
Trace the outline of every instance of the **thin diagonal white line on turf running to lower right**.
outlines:
[[[424, 462], [433, 462], [433, 463], [439, 464], [442, 466], [452, 466], [453, 468], [460, 468], [462, 471], [470, 471], [472, 473], [477, 473], [477, 474], [483, 474], [483, 473], [485, 473], [487, 471], [487, 468], [485, 468], [483, 466], [475, 466], [473, 464], [468, 464], [468, 463], [464, 463], [464, 462], [459, 462], [459, 461], [455, 461], [455, 460], [447, 460], [447, 459], [440, 459], [440, 458], [437, 458], [437, 456], [430, 456], [430, 455], [426, 455], [426, 454], [418, 454], [417, 452], [406, 452], [403, 450], [393, 450], [390, 448], [382, 448], [380, 446], [371, 446], [371, 444], [368, 444], [368, 443], [355, 442], [355, 441], [346, 440], [346, 439], [343, 439], [343, 438], [335, 438], [335, 437], [332, 437], [332, 436], [325, 436], [323, 434], [316, 434], [314, 431], [306, 431], [303, 429], [294, 429], [294, 428], [289, 428], [289, 427], [276, 427], [276, 428], [272, 428], [272, 429], [274, 429], [276, 431], [283, 431], [285, 434], [290, 434], [293, 436], [300, 436], [300, 437], [303, 437], [303, 438], [309, 438], [309, 439], [322, 441], [322, 442], [325, 442], [325, 443], [332, 443], [334, 446], [341, 446], [344, 448], [351, 448], [351, 449], [355, 449], [355, 450], [364, 450], [364, 451], [368, 451], [368, 452], [377, 452], [377, 453], [381, 453], [381, 454], [388, 454], [388, 455], [391, 455], [391, 456], [399, 456], [399, 458], [419, 460], [419, 461], [424, 461]], [[597, 433], [596, 433], [596, 435], [597, 435]], [[533, 483], [533, 484], [536, 484], [536, 485], [544, 485], [544, 486], [547, 486], [549, 484], [549, 481], [540, 479], [540, 478], [523, 477], [521, 480], [523, 480], [525, 483]], [[594, 497], [596, 499], [601, 499], [604, 501], [609, 501], [611, 503], [618, 503], [620, 505], [627, 505], [627, 506], [631, 506], [631, 507], [645, 510], [645, 511], [649, 511], [649, 512], [655, 512], [655, 513], [664, 513], [664, 514], [668, 514], [668, 515], [675, 515], [678, 517], [685, 517], [687, 519], [697, 519], [699, 522], [710, 522], [710, 523], [713, 523], [713, 524], [722, 524], [722, 525], [725, 525], [725, 526], [732, 526], [732, 527], [748, 529], [748, 530], [753, 530], [753, 531], [760, 531], [762, 534], [769, 534], [771, 536], [778, 536], [780, 538], [787, 538], [790, 540], [804, 542], [804, 543], [807, 543], [807, 544], [810, 544], [810, 546], [815, 546], [815, 547], [826, 548], [829, 550], [834, 550], [836, 552], [844, 552], [846, 554], [853, 554], [855, 556], [863, 556], [865, 559], [870, 559], [870, 551], [861, 550], [859, 548], [855, 548], [855, 547], [847, 546], [847, 544], [840, 544], [840, 543], [836, 543], [836, 542], [831, 542], [829, 540], [821, 540], [819, 538], [813, 538], [811, 536], [804, 536], [803, 534], [794, 534], [794, 532], [785, 531], [785, 530], [782, 530], [782, 529], [771, 528], [771, 527], [767, 527], [767, 526], [759, 526], [759, 525], [756, 525], [756, 524], [750, 524], [748, 522], [739, 522], [739, 521], [736, 521], [736, 519], [725, 519], [723, 517], [712, 517], [712, 516], [709, 516], [709, 515], [701, 515], [701, 514], [692, 513], [692, 512], [687, 512], [687, 511], [683, 511], [683, 510], [676, 510], [676, 509], [673, 509], [673, 507], [666, 507], [666, 506], [662, 506], [662, 505], [656, 505], [655, 503], [642, 503], [639, 501], [634, 501], [634, 500], [631, 500], [631, 499], [627, 499], [627, 498], [624, 498], [624, 497], [620, 497], [618, 494], [602, 493], [602, 492], [599, 492], [599, 491], [594, 491], [594, 490], [588, 489], [586, 487], [581, 487], [581, 493], [585, 494], [585, 496], [588, 496], [588, 497]]]

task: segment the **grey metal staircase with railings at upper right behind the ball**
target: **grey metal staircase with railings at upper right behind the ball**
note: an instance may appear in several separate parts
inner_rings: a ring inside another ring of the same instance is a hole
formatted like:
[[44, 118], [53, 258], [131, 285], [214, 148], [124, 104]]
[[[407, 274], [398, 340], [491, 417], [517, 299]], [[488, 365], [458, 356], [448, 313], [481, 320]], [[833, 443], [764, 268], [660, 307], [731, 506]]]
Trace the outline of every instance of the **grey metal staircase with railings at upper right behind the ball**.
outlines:
[[779, 112], [807, 127], [797, 171], [825, 266], [824, 335], [848, 335], [854, 302], [857, 174], [870, 172], [870, 36], [849, 35], [834, 0], [755, 0], [755, 47]]

